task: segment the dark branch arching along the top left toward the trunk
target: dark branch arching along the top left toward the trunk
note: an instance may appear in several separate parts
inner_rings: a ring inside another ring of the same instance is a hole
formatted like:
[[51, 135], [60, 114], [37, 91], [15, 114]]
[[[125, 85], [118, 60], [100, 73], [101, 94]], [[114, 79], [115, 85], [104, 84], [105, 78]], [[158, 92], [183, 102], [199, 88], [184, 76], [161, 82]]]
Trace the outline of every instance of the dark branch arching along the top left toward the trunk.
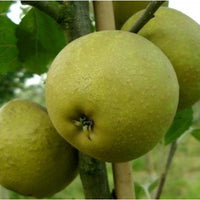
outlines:
[[60, 8], [48, 1], [21, 1], [22, 4], [33, 6], [51, 16], [58, 23], [61, 21]]

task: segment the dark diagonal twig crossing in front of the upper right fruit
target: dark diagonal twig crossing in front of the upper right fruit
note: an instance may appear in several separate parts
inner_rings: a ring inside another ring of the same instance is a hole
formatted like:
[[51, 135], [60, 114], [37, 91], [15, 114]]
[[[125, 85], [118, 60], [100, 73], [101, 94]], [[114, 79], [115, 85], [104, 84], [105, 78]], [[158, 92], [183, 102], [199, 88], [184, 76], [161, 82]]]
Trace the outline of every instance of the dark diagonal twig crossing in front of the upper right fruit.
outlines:
[[133, 26], [129, 29], [130, 32], [138, 33], [139, 30], [154, 17], [156, 10], [164, 3], [165, 1], [151, 1], [147, 8], [144, 10], [143, 14], [137, 19]]

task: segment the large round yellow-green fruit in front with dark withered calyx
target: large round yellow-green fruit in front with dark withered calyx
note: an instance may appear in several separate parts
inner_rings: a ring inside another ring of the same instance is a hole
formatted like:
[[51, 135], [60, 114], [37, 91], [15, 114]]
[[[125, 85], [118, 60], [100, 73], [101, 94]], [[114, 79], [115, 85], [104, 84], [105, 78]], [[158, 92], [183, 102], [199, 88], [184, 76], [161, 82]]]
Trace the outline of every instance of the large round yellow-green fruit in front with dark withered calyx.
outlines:
[[47, 75], [46, 104], [58, 132], [80, 151], [122, 162], [152, 149], [170, 126], [178, 82], [153, 43], [101, 31], [67, 45]]

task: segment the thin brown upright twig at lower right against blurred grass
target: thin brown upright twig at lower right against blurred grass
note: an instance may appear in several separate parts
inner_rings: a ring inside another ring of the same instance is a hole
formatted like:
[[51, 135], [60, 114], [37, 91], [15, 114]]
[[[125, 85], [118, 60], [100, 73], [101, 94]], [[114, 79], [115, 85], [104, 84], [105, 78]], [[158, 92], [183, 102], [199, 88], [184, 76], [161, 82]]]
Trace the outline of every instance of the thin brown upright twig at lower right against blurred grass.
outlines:
[[165, 184], [165, 181], [166, 181], [166, 178], [167, 178], [167, 174], [168, 174], [169, 168], [171, 166], [172, 159], [173, 159], [174, 154], [176, 152], [177, 146], [178, 146], [177, 141], [173, 142], [170, 146], [170, 150], [169, 150], [169, 154], [168, 154], [168, 157], [167, 157], [165, 169], [161, 174], [160, 181], [159, 181], [159, 184], [158, 184], [158, 189], [157, 189], [157, 192], [156, 192], [156, 195], [155, 195], [155, 199], [159, 199], [161, 194], [162, 194], [163, 187], [164, 187], [164, 184]]

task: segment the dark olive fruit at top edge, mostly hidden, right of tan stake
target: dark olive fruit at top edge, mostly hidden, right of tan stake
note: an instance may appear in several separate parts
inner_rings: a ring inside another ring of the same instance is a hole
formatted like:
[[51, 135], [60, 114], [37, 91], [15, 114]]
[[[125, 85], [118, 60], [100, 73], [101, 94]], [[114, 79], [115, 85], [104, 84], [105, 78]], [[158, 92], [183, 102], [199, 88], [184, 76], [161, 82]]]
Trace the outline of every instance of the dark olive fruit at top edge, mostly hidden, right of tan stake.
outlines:
[[[120, 29], [129, 17], [146, 8], [149, 3], [150, 1], [113, 1], [116, 28]], [[168, 6], [168, 2], [163, 5]]]

